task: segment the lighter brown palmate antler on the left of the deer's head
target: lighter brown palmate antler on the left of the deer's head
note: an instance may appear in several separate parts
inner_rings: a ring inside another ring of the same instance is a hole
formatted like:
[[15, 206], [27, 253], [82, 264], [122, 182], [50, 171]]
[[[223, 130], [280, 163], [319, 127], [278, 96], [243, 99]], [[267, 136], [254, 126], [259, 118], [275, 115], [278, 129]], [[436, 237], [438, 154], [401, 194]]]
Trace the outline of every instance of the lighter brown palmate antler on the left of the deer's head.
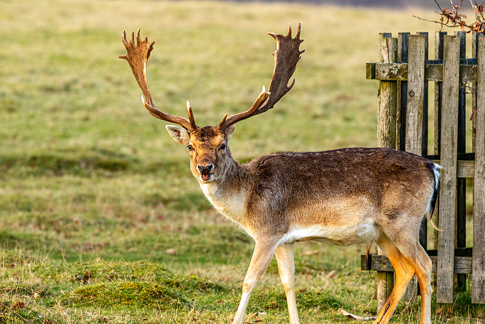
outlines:
[[[138, 82], [138, 85], [142, 89], [142, 102], [145, 105], [145, 108], [148, 109], [150, 114], [158, 119], [179, 124], [189, 133], [197, 130], [199, 127], [195, 125], [194, 115], [192, 114], [192, 108], [190, 107], [189, 102], [187, 102], [187, 113], [189, 114], [189, 119], [166, 114], [158, 110], [157, 107], [155, 107], [155, 105], [153, 104], [150, 91], [148, 90], [148, 83], [146, 82], [146, 61], [148, 61], [148, 58], [150, 57], [150, 52], [153, 50], [153, 44], [155, 42], [148, 42], [146, 37], [142, 41], [142, 39], [140, 38], [140, 29], [138, 29], [138, 31], [136, 32], [136, 45], [133, 39], [133, 33], [129, 35], [128, 42], [126, 40], [125, 31], [123, 31], [123, 33], [121, 34], [121, 40], [123, 41], [123, 45], [125, 45], [127, 54], [120, 55], [118, 57], [124, 58], [128, 61], [129, 66], [133, 71], [133, 75], [135, 76], [136, 82]], [[148, 101], [149, 103], [147, 103], [146, 101]]]

